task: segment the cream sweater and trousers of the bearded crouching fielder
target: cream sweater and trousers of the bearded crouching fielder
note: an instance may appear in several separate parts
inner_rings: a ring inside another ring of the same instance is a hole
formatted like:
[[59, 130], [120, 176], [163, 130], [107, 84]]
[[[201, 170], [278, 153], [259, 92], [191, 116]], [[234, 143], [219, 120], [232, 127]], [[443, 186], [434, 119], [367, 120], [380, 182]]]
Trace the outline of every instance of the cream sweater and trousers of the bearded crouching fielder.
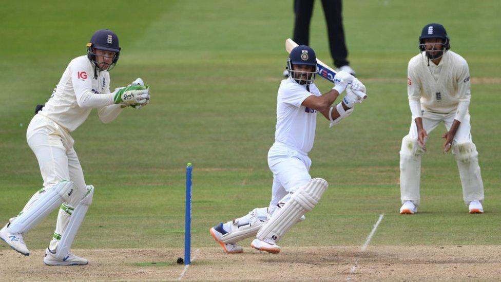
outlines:
[[408, 66], [407, 90], [412, 113], [409, 134], [402, 139], [400, 149], [400, 192], [402, 203], [420, 203], [419, 184], [421, 155], [417, 143], [415, 119], [422, 118], [428, 134], [444, 122], [449, 130], [457, 120], [460, 125], [453, 139], [452, 152], [456, 158], [463, 197], [466, 204], [484, 200], [484, 184], [478, 166], [478, 153], [470, 133], [470, 71], [460, 55], [448, 50], [438, 65], [428, 61], [426, 54], [413, 57]]

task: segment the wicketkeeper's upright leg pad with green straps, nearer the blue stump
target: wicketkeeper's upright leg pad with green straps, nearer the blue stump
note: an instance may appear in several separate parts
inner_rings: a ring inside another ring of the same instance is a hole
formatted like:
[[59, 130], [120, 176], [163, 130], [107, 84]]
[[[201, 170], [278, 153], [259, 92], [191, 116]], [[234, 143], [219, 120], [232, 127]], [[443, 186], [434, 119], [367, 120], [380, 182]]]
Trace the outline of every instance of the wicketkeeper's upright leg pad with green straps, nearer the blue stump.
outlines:
[[57, 250], [55, 252], [55, 256], [63, 259], [68, 255], [71, 244], [75, 239], [76, 232], [78, 232], [82, 221], [84, 220], [85, 214], [89, 209], [89, 205], [92, 203], [92, 197], [94, 196], [94, 186], [90, 185], [89, 190], [87, 190], [87, 194], [84, 198], [75, 206], [75, 210], [71, 213], [70, 220], [68, 221], [68, 225], [64, 230], [63, 234], [61, 234], [61, 241], [59, 242], [59, 246], [57, 246]]

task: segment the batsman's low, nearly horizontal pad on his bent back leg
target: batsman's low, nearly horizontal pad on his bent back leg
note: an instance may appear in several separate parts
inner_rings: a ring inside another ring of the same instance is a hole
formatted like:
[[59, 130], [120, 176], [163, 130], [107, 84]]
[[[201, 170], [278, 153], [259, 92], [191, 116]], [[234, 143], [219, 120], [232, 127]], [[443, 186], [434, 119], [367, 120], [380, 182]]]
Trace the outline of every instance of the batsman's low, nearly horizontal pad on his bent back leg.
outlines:
[[[267, 208], [256, 208], [249, 212], [248, 221], [233, 220], [232, 231], [221, 236], [224, 243], [236, 243], [246, 238], [254, 237], [263, 226], [267, 217]], [[247, 218], [244, 216], [242, 218]]]

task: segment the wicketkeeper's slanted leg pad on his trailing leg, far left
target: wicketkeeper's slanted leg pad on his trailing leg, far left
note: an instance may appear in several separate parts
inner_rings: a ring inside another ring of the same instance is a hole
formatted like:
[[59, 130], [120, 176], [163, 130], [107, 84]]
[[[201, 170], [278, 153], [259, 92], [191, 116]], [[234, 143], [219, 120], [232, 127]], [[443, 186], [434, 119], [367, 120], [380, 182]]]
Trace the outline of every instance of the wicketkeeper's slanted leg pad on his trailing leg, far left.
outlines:
[[30, 208], [18, 216], [10, 225], [12, 234], [26, 233], [53, 210], [59, 208], [61, 203], [68, 201], [78, 187], [71, 181], [61, 181], [50, 187]]

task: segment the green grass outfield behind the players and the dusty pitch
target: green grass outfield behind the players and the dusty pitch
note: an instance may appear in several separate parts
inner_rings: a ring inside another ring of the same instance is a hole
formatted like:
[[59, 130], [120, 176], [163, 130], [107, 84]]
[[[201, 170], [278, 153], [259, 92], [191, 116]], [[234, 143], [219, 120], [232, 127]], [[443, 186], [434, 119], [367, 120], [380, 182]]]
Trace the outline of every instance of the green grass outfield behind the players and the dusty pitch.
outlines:
[[[274, 141], [292, 1], [148, 1], [138, 9], [134, 3], [3, 5], [0, 221], [17, 214], [42, 184], [25, 138], [34, 106], [48, 99], [68, 62], [85, 53], [92, 32], [107, 27], [123, 50], [112, 87], [142, 77], [152, 100], [110, 124], [94, 110], [72, 134], [86, 182], [96, 187], [73, 247], [181, 248], [188, 161], [194, 164], [192, 243], [215, 247], [211, 225], [269, 201], [266, 154]], [[319, 116], [311, 174], [329, 181], [330, 189], [283, 247], [361, 246], [380, 214], [371, 245], [499, 244], [500, 6], [497, 0], [345, 1], [349, 60], [369, 99], [333, 129]], [[422, 161], [419, 215], [397, 213], [398, 151], [410, 124], [407, 63], [429, 22], [445, 25], [452, 50], [470, 66], [483, 215], [467, 214], [454, 157], [440, 153], [444, 127], [432, 133]], [[311, 46], [332, 64], [319, 2], [311, 28]], [[317, 81], [322, 91], [332, 87]], [[45, 248], [54, 226], [55, 213], [27, 234], [28, 247]]]

